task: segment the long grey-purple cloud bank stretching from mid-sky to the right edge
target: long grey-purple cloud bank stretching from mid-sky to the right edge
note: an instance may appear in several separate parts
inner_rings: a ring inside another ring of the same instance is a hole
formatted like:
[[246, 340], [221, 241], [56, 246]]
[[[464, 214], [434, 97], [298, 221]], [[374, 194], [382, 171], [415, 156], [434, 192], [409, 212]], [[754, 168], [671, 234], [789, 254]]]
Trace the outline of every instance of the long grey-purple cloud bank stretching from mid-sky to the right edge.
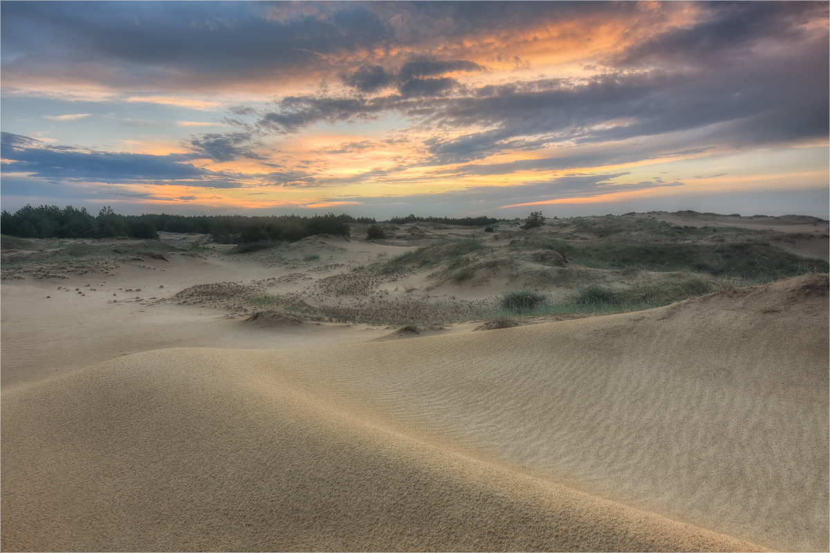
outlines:
[[[828, 134], [828, 49], [819, 46], [805, 51], [784, 45], [752, 63], [740, 59], [739, 65], [717, 69], [701, 65], [609, 72], [588, 79], [544, 78], [463, 90], [451, 77], [413, 77], [402, 85], [401, 95], [286, 97], [276, 109], [261, 114], [256, 126], [293, 133], [313, 124], [399, 114], [441, 130], [423, 143], [438, 164], [715, 125], [720, 127], [712, 142], [700, 146], [810, 140]], [[450, 90], [461, 94], [445, 96]]]

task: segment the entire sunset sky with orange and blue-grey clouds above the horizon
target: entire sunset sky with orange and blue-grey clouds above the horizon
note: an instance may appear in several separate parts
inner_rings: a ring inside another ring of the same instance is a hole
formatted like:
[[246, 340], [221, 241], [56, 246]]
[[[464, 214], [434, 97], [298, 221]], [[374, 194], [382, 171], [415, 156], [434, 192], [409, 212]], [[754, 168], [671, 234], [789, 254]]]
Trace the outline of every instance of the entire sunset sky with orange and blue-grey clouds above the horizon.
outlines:
[[830, 211], [828, 2], [0, 2], [0, 203]]

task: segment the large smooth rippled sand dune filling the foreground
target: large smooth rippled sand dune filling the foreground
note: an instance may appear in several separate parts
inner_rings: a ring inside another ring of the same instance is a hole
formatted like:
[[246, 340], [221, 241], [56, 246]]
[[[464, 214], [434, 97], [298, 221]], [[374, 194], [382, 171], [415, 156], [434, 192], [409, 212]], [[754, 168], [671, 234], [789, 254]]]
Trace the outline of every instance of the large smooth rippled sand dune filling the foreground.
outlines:
[[2, 392], [2, 548], [828, 549], [828, 277]]

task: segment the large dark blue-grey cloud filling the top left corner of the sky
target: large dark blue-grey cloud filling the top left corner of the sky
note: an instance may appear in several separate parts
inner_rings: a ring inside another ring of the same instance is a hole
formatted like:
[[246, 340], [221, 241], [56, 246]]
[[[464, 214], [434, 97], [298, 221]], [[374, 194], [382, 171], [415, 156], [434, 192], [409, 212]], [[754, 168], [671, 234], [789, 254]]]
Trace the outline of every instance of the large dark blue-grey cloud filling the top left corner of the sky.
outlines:
[[[4, 87], [273, 90], [286, 80], [317, 79], [342, 69], [331, 56], [388, 40], [383, 23], [367, 7], [338, 4], [320, 5], [318, 12], [330, 17], [311, 14], [310, 4], [286, 18], [273, 17], [273, 4], [258, 2], [4, 2]], [[155, 101], [183, 105], [169, 95]], [[212, 109], [209, 103], [189, 107]]]

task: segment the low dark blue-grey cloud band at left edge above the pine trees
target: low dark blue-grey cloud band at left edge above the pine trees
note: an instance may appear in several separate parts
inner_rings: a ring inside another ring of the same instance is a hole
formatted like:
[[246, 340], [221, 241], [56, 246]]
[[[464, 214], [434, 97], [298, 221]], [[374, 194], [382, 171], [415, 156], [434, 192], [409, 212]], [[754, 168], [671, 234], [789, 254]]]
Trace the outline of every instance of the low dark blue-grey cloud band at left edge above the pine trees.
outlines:
[[[22, 172], [51, 181], [146, 182], [187, 180], [197, 187], [238, 187], [221, 172], [187, 163], [183, 154], [155, 156], [143, 153], [111, 153], [71, 147], [43, 147], [41, 142], [12, 133], [0, 133], [3, 172]], [[180, 183], [180, 182], [179, 182]]]

